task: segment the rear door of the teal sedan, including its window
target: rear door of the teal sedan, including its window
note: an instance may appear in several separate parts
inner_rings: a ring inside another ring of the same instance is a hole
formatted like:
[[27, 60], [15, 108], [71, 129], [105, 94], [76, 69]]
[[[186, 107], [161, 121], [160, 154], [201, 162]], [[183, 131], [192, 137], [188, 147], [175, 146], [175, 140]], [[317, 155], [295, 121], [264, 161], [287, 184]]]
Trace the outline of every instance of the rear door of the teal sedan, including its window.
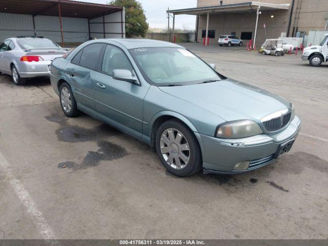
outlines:
[[103, 43], [93, 43], [84, 47], [65, 69], [77, 107], [91, 114], [95, 114], [94, 77], [103, 47]]

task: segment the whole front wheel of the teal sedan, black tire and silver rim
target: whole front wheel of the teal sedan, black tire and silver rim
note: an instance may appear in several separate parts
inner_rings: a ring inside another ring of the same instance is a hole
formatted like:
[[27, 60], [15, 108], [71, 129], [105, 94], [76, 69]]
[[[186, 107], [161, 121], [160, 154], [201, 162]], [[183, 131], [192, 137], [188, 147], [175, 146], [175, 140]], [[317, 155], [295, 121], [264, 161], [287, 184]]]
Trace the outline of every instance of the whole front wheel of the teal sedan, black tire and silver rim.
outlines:
[[190, 176], [201, 170], [202, 157], [197, 138], [178, 120], [168, 120], [159, 127], [156, 151], [162, 165], [176, 176]]

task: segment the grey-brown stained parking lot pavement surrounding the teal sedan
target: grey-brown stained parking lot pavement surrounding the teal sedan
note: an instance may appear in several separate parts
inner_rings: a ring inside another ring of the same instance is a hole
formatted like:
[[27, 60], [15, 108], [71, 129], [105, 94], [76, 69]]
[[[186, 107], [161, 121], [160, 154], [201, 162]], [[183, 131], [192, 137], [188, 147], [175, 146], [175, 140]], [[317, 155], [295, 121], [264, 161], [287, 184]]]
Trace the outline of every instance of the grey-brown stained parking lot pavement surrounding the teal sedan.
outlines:
[[17, 87], [0, 75], [0, 239], [328, 238], [328, 67], [182, 45], [292, 101], [302, 128], [291, 152], [249, 173], [178, 178], [149, 146], [65, 117], [49, 79]]

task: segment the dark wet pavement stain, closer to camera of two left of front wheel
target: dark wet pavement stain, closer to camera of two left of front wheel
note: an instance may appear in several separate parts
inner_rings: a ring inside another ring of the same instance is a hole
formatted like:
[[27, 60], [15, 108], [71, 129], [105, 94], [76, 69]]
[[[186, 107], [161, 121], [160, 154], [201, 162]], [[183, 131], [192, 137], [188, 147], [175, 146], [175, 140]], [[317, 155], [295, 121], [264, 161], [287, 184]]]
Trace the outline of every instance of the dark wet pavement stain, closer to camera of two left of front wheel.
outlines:
[[115, 145], [110, 141], [99, 140], [97, 145], [99, 147], [98, 151], [88, 151], [88, 154], [81, 163], [64, 161], [58, 164], [58, 168], [68, 168], [74, 171], [84, 170], [99, 165], [100, 161], [116, 160], [129, 154], [125, 148]]

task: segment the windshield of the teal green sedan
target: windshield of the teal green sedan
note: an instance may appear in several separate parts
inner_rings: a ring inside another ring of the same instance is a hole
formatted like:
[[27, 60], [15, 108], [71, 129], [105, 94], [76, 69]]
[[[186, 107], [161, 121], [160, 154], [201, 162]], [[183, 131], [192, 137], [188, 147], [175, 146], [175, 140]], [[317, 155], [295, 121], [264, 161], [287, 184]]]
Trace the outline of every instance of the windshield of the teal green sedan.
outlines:
[[221, 80], [208, 64], [184, 48], [137, 48], [130, 50], [144, 77], [156, 86], [191, 85]]

